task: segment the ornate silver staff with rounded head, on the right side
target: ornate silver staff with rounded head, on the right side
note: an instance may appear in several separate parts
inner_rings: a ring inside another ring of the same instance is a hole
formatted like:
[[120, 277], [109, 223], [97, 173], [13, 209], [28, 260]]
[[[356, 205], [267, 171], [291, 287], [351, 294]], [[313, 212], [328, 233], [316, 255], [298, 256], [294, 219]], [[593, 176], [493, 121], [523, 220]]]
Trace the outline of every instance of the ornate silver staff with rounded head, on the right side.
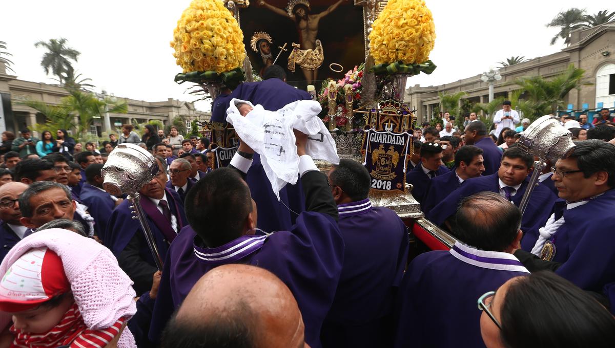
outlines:
[[538, 118], [521, 133], [517, 146], [539, 159], [534, 162], [534, 172], [530, 178], [530, 185], [525, 190], [525, 195], [523, 195], [521, 204], [519, 204], [519, 209], [523, 215], [530, 202], [532, 191], [538, 185], [538, 177], [547, 165], [544, 161], [568, 157], [574, 150], [575, 145], [572, 140], [572, 133], [560, 125], [557, 119], [551, 115], [545, 115]]

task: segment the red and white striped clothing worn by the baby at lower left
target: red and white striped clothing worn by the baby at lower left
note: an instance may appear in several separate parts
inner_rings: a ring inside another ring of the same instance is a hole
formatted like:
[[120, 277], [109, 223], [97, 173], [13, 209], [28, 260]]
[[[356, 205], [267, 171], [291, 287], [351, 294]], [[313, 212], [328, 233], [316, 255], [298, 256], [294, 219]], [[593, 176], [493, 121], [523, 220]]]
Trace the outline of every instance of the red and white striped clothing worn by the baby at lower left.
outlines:
[[79, 307], [73, 303], [60, 323], [46, 333], [25, 333], [11, 327], [10, 331], [15, 335], [11, 347], [104, 348], [120, 333], [125, 321], [121, 318], [109, 328], [89, 330], [85, 327]]

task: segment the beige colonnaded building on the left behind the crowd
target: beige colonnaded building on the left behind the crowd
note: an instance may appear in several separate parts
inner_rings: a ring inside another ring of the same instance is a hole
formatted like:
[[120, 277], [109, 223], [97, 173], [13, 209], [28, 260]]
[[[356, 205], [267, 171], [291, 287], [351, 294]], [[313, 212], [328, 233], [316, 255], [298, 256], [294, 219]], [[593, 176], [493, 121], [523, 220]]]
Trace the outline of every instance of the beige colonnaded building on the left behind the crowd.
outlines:
[[[4, 63], [0, 61], [0, 95], [2, 104], [0, 105], [0, 132], [11, 131], [15, 134], [19, 130], [31, 127], [35, 123], [45, 123], [46, 117], [28, 106], [20, 105], [20, 101], [36, 100], [43, 101], [50, 105], [57, 105], [60, 99], [68, 96], [64, 88], [47, 83], [30, 82], [17, 79], [17, 76], [7, 74]], [[125, 101], [128, 105], [127, 114], [109, 114], [113, 133], [117, 133], [122, 124], [149, 122], [159, 120], [165, 126], [169, 125], [173, 118], [181, 117], [185, 120], [189, 129], [192, 120], [208, 122], [211, 118], [210, 112], [197, 110], [191, 102], [180, 101], [169, 98], [166, 101], [140, 101], [130, 98], [117, 97], [118, 101]], [[91, 134], [107, 132], [105, 130], [103, 118], [93, 120]]]

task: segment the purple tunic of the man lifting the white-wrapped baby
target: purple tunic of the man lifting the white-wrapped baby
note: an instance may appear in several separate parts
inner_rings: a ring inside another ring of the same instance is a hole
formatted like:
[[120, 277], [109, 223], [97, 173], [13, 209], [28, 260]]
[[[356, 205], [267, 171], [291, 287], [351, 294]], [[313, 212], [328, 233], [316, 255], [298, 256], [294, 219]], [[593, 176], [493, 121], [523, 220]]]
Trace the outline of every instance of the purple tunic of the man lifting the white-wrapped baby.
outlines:
[[[238, 244], [250, 247], [228, 257], [237, 250], [229, 249]], [[289, 231], [242, 236], [213, 249], [199, 245], [199, 237], [186, 226], [167, 252], [149, 330], [152, 341], [159, 339], [175, 309], [203, 274], [226, 263], [245, 263], [268, 269], [290, 288], [303, 315], [306, 342], [320, 347], [320, 327], [333, 303], [344, 255], [344, 242], [332, 217], [303, 212]], [[207, 255], [213, 253], [221, 254]]]

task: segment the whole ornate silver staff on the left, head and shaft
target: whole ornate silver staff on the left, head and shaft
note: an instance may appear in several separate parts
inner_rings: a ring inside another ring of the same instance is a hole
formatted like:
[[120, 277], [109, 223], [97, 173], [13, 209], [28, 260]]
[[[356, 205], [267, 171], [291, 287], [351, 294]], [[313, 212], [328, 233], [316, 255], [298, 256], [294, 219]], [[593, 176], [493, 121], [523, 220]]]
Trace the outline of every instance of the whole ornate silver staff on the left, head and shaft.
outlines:
[[149, 250], [154, 256], [157, 268], [162, 271], [162, 258], [156, 247], [156, 241], [149, 229], [143, 208], [141, 208], [139, 191], [158, 174], [158, 164], [151, 153], [135, 144], [119, 144], [109, 157], [101, 173], [103, 188], [114, 196], [128, 194], [132, 203], [130, 209], [134, 219], [141, 223], [141, 229], [148, 242]]

